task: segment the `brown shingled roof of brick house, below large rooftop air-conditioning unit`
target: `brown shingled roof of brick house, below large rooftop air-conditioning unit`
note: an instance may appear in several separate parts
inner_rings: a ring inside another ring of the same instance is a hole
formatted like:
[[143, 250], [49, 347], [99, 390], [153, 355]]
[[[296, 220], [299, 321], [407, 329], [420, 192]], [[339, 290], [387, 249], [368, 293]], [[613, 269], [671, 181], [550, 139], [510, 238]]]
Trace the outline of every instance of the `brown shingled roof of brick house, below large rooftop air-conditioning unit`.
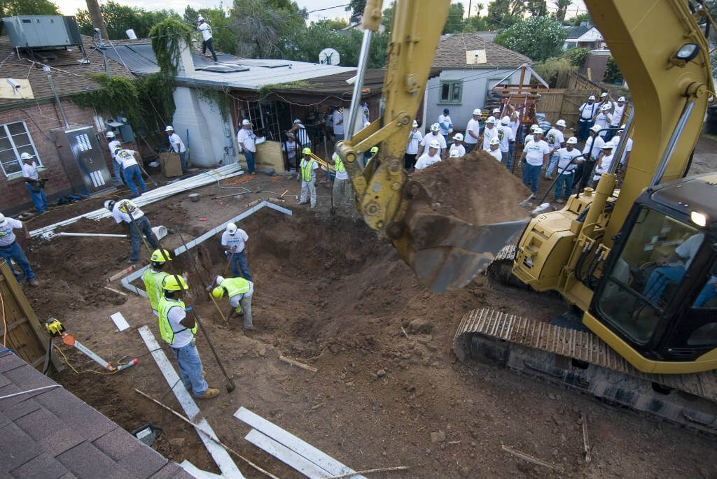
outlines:
[[[84, 57], [82, 57], [82, 52], [77, 47], [71, 47], [67, 50], [45, 50], [45, 52], [57, 57], [57, 59], [46, 61], [44, 64], [52, 68], [52, 81], [60, 96], [74, 95], [75, 93], [100, 88], [100, 84], [87, 77], [87, 74], [105, 73], [103, 56], [97, 50], [92, 49], [90, 37], [83, 35], [82, 43], [84, 44], [85, 52], [87, 52], [87, 59], [90, 61], [88, 64], [80, 64]], [[46, 100], [53, 97], [52, 89], [47, 81], [47, 75], [42, 71], [42, 64], [34, 63], [22, 50], [20, 51], [20, 57], [17, 57], [7, 36], [0, 37], [0, 61], [2, 62], [0, 77], [27, 78], [30, 82], [30, 87], [32, 87], [34, 100]], [[120, 64], [110, 60], [108, 61], [108, 66], [110, 67], [110, 73], [113, 75], [132, 77]], [[4, 82], [4, 80], [2, 81]], [[19, 96], [17, 100], [0, 98], [0, 107], [26, 101], [27, 99], [22, 96]]]

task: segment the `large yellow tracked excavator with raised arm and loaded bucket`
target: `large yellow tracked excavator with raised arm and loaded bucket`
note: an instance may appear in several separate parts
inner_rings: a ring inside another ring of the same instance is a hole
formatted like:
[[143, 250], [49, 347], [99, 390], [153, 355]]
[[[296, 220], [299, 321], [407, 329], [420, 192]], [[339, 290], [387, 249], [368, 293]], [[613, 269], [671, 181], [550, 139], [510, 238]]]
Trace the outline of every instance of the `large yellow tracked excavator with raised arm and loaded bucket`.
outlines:
[[[381, 115], [348, 132], [338, 153], [356, 208], [428, 289], [460, 288], [502, 262], [513, 279], [571, 307], [549, 323], [490, 308], [470, 311], [455, 334], [460, 359], [716, 434], [717, 173], [687, 176], [716, 98], [706, 40], [715, 24], [703, 2], [585, 4], [630, 85], [634, 112], [607, 172], [560, 210], [526, 212], [525, 221], [467, 223], [437, 214], [431, 194], [403, 169], [450, 0], [395, 1]], [[380, 19], [381, 1], [367, 1], [348, 125], [355, 124]], [[630, 132], [635, 147], [617, 188]], [[374, 145], [378, 168], [361, 168], [361, 152]]]

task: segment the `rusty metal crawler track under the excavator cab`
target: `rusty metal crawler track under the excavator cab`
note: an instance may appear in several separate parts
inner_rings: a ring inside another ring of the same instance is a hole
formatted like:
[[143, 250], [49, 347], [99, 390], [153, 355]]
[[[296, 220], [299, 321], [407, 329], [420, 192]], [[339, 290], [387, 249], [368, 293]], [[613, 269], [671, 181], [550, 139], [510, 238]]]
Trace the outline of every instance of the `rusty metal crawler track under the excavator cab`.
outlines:
[[483, 308], [460, 321], [453, 350], [462, 361], [499, 364], [717, 435], [717, 372], [646, 374], [592, 332]]

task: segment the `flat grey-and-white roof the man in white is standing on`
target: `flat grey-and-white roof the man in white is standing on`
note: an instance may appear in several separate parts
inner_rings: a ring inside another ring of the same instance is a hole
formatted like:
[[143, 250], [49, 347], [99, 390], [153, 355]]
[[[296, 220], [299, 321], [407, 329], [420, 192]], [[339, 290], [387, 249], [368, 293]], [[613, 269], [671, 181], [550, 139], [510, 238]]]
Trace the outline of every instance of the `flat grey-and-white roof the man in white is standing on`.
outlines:
[[[113, 48], [105, 49], [105, 53], [117, 62], [126, 64], [134, 74], [146, 75], [159, 71], [151, 44], [146, 39], [115, 44]], [[175, 78], [177, 84], [185, 86], [206, 84], [258, 90], [267, 84], [298, 82], [356, 70], [353, 67], [336, 67], [293, 60], [247, 59], [225, 53], [217, 54], [219, 64], [196, 52], [192, 52], [191, 57], [194, 61], [194, 73], [183, 76], [180, 72]], [[209, 69], [222, 69], [226, 72], [209, 71]]]

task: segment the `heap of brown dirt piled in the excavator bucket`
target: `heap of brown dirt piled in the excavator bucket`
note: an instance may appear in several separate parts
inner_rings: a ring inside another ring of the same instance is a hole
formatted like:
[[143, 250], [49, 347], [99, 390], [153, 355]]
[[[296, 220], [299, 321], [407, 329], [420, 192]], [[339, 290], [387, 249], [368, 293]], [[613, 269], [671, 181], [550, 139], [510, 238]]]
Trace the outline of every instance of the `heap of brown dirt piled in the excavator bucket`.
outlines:
[[417, 171], [412, 179], [424, 185], [437, 213], [474, 225], [527, 216], [518, 203], [528, 198], [530, 190], [483, 150], [434, 163]]

